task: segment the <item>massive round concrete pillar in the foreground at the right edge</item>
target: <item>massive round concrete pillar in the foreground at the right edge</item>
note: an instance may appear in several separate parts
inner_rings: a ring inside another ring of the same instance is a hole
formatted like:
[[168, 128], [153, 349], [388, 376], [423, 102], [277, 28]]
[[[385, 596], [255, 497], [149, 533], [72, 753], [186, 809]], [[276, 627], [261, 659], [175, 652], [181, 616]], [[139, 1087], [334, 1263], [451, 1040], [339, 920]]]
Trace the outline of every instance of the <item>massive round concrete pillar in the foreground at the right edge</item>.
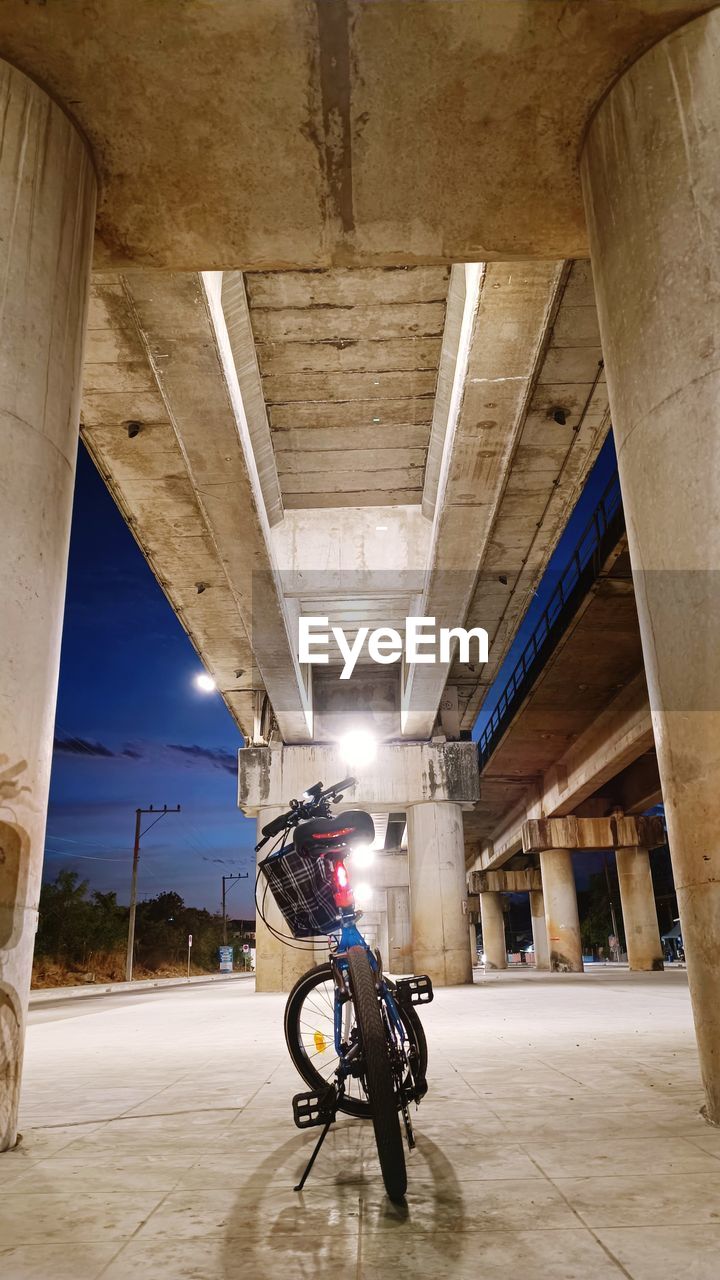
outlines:
[[720, 1124], [720, 10], [614, 86], [582, 177], [707, 1116]]

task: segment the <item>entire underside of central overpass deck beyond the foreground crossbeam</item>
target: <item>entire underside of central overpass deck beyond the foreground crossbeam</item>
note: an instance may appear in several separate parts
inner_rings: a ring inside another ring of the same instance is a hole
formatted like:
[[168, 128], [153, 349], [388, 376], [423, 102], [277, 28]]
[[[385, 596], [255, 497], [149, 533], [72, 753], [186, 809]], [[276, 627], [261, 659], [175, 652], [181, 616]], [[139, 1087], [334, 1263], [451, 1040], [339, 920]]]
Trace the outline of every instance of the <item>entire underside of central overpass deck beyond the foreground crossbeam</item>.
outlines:
[[247, 737], [266, 694], [288, 742], [428, 739], [448, 678], [470, 727], [483, 667], [331, 645], [311, 689], [297, 621], [470, 611], [497, 667], [609, 429], [597, 342], [587, 262], [95, 274], [83, 435]]

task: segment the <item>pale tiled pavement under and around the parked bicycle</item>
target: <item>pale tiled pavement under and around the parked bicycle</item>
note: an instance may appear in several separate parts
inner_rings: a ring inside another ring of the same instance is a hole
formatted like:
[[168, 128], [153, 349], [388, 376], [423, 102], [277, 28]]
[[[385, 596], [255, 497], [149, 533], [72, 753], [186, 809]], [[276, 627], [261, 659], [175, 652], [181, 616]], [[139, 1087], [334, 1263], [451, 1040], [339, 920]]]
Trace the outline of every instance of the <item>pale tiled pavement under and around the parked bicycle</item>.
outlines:
[[292, 1192], [314, 1138], [282, 1007], [237, 983], [32, 1014], [5, 1280], [716, 1280], [720, 1130], [684, 974], [439, 992], [405, 1210], [350, 1120]]

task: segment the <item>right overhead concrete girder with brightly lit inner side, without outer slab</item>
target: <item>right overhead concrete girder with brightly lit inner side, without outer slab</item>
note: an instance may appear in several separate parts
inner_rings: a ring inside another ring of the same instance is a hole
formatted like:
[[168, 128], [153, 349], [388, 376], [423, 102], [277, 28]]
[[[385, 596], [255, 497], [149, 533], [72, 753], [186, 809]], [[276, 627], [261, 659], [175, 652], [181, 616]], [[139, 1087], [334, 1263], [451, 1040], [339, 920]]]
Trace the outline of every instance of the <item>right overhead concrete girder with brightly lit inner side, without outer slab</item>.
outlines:
[[[454, 269], [423, 494], [433, 529], [421, 613], [438, 626], [468, 616], [564, 276], [561, 262]], [[430, 736], [452, 660], [407, 669], [407, 737]]]

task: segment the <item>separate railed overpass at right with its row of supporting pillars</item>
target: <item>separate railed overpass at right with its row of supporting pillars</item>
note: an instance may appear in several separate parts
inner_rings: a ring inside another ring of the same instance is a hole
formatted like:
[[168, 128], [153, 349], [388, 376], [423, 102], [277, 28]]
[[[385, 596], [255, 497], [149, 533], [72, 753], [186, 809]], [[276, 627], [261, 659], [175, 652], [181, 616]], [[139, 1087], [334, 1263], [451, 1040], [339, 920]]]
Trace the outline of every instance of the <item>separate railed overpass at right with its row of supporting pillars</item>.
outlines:
[[487, 964], [507, 965], [502, 895], [527, 892], [536, 966], [582, 972], [573, 859], [606, 851], [630, 968], [661, 969], [650, 851], [666, 835], [643, 814], [662, 790], [616, 475], [493, 696], [480, 796], [464, 818], [470, 914]]

